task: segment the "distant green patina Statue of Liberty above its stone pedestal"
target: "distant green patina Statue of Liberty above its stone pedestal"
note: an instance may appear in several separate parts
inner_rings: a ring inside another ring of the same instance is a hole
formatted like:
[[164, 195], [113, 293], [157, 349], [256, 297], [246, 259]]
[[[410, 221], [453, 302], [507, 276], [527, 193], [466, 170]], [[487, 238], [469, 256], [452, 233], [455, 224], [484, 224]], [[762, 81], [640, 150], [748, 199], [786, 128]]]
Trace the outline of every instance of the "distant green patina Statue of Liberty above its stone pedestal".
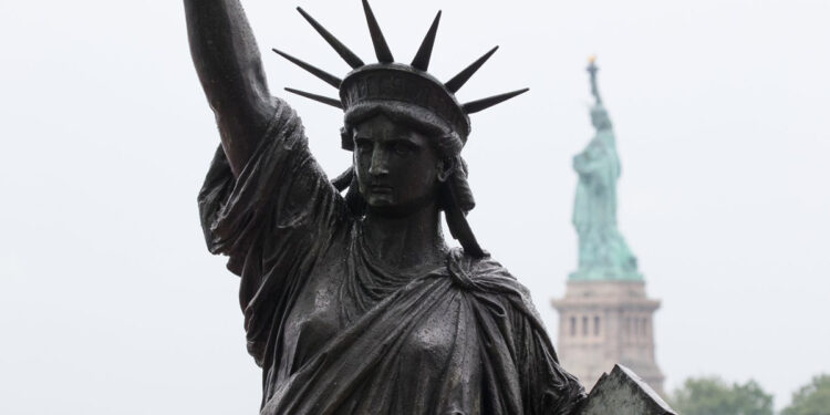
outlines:
[[591, 107], [591, 123], [596, 135], [582, 153], [573, 157], [579, 174], [573, 226], [579, 234], [579, 270], [571, 280], [642, 280], [636, 257], [616, 228], [616, 180], [620, 157], [611, 118], [602, 104], [596, 86], [599, 69], [591, 59], [591, 93], [596, 102]]

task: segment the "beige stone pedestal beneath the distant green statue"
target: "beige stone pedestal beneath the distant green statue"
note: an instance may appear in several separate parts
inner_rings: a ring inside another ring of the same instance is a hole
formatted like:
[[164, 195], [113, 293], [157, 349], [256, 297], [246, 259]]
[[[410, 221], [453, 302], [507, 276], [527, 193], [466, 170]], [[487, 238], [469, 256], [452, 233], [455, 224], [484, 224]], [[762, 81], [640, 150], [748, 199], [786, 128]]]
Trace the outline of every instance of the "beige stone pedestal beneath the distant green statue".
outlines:
[[633, 370], [658, 394], [663, 373], [654, 360], [653, 315], [658, 300], [643, 281], [569, 281], [559, 312], [557, 351], [562, 366], [590, 390], [615, 364]]

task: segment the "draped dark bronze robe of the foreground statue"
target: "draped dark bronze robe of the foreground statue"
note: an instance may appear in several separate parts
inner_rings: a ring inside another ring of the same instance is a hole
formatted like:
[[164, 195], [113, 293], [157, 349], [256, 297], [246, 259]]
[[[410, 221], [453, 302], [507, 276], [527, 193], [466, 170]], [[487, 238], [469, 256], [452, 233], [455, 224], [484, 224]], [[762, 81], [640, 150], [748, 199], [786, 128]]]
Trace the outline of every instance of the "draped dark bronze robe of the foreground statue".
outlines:
[[530, 295], [490, 258], [385, 269], [279, 102], [238, 177], [221, 147], [199, 209], [241, 277], [262, 415], [570, 414], [584, 398]]

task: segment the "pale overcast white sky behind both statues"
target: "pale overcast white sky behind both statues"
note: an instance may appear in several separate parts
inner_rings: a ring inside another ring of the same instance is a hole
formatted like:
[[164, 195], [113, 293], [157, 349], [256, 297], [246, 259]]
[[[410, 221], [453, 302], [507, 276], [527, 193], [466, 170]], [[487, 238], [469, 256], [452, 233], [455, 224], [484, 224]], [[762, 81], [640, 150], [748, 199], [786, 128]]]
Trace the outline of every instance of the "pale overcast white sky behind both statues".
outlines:
[[[330, 87], [268, 51], [364, 59], [356, 0], [245, 1], [271, 89]], [[590, 138], [587, 58], [623, 163], [668, 388], [755, 378], [777, 406], [830, 372], [830, 2], [374, 0], [408, 62], [444, 10], [432, 70], [502, 48], [461, 100], [479, 240], [549, 305], [575, 267], [570, 158]], [[180, 1], [0, 0], [0, 413], [256, 414], [236, 277], [208, 255], [196, 194], [218, 144]], [[333, 91], [332, 91], [333, 92]], [[291, 98], [331, 175], [341, 114]]]

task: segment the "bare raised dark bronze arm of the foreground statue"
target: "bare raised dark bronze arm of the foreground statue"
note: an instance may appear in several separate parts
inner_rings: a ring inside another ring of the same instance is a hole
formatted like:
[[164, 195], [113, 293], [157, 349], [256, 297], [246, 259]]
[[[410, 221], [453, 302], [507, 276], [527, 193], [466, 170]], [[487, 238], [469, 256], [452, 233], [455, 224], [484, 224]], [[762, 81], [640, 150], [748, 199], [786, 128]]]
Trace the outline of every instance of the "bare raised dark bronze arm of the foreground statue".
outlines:
[[185, 0], [196, 71], [238, 176], [268, 127], [276, 104], [239, 0]]

